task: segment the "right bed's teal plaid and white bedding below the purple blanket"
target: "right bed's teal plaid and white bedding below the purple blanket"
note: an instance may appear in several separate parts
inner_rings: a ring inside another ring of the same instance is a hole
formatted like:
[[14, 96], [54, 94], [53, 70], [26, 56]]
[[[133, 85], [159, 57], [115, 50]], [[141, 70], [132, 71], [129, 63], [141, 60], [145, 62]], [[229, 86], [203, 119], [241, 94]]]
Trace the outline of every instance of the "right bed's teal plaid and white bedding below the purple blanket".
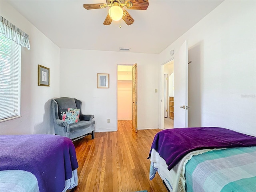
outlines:
[[255, 192], [256, 189], [255, 146], [190, 152], [170, 171], [154, 149], [150, 161], [150, 179], [157, 171], [170, 192]]

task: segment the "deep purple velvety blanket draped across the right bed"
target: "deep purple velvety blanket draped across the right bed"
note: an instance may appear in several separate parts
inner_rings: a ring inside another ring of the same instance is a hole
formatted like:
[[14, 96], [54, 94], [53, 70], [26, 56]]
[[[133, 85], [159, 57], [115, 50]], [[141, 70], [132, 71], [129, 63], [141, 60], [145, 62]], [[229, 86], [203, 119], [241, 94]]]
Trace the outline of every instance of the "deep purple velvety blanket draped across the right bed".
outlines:
[[151, 150], [156, 150], [165, 160], [168, 170], [171, 170], [186, 154], [194, 150], [248, 146], [256, 146], [256, 137], [225, 128], [196, 127], [158, 132]]

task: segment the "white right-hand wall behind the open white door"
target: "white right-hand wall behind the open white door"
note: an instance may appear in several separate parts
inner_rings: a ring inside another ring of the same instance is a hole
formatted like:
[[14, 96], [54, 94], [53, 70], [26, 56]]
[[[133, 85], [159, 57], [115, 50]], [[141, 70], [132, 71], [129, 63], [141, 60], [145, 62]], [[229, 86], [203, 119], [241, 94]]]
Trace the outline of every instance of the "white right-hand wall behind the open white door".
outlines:
[[[159, 63], [163, 64], [172, 58], [170, 50], [177, 52], [188, 40], [190, 70], [195, 68], [190, 86], [194, 84], [197, 90], [189, 92], [196, 100], [196, 105], [192, 100], [189, 103], [190, 112], [198, 119], [193, 126], [218, 126], [256, 135], [255, 15], [255, 1], [224, 1], [160, 53]], [[174, 105], [175, 113], [179, 104]]]

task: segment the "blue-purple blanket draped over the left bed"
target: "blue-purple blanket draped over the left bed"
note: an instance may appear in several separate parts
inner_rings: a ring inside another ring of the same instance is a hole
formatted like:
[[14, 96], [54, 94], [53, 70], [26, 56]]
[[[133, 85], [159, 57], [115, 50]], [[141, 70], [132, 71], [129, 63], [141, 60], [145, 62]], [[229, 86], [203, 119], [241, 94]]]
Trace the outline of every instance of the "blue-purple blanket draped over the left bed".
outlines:
[[78, 168], [72, 141], [57, 135], [0, 135], [0, 170], [34, 174], [40, 192], [61, 192]]

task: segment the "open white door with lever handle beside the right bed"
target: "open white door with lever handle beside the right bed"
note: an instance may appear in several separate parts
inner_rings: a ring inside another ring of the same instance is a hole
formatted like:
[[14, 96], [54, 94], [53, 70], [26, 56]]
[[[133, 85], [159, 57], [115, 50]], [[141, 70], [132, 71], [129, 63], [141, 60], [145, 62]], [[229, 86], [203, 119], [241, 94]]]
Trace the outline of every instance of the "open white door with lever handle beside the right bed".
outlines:
[[188, 127], [188, 42], [174, 57], [174, 128]]

